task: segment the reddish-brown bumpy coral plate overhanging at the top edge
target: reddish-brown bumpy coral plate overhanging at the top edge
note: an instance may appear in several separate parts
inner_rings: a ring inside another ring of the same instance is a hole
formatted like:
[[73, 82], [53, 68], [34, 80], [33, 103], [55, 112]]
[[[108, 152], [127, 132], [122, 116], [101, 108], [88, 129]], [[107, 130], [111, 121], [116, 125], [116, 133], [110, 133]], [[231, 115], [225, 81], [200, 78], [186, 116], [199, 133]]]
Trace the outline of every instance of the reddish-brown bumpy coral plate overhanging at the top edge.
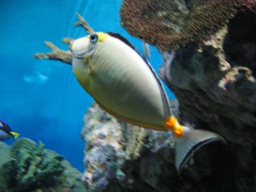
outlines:
[[202, 42], [227, 24], [241, 6], [237, 0], [124, 0], [122, 26], [161, 51]]

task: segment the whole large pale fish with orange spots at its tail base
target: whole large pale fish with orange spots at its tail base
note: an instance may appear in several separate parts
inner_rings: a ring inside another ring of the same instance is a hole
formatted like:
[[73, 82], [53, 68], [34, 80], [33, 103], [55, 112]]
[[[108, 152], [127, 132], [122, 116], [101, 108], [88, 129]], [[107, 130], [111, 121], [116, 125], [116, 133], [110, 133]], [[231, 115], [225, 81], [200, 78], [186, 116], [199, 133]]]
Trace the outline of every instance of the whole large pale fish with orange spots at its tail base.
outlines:
[[92, 33], [73, 40], [70, 50], [77, 80], [108, 113], [140, 127], [173, 132], [178, 172], [198, 148], [223, 140], [214, 132], [180, 125], [171, 116], [154, 70], [122, 36]]

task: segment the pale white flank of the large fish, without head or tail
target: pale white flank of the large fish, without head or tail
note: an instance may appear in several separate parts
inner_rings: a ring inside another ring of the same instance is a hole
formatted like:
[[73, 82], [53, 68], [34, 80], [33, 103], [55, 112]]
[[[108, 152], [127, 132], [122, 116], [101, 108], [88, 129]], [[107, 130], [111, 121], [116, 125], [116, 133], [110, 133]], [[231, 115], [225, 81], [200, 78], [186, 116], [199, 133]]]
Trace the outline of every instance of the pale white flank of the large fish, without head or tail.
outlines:
[[86, 92], [114, 115], [166, 130], [170, 109], [163, 88], [143, 58], [124, 42], [109, 36], [89, 66], [73, 58], [73, 70]]

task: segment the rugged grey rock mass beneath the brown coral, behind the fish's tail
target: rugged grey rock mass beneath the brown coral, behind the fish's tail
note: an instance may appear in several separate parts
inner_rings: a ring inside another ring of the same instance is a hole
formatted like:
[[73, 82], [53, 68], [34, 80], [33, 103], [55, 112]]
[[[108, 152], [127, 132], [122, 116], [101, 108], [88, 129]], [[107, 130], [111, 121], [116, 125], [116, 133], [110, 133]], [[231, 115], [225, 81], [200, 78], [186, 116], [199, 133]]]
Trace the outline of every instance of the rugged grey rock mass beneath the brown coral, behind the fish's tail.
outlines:
[[247, 8], [200, 44], [164, 52], [159, 70], [179, 100], [179, 110], [173, 102], [171, 109], [180, 122], [217, 132], [228, 145], [198, 150], [180, 179], [172, 136], [137, 129], [93, 105], [83, 131], [88, 191], [255, 191], [256, 29], [255, 13]]

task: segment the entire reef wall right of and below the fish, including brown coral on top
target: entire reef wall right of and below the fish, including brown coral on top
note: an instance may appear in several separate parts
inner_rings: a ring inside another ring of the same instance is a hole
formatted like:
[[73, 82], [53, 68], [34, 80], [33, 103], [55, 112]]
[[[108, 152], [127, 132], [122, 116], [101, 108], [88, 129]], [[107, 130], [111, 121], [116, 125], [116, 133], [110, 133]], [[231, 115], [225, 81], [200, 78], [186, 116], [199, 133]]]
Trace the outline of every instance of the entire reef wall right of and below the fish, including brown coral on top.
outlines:
[[173, 113], [227, 145], [198, 150], [179, 177], [169, 133], [125, 124], [94, 104], [83, 129], [88, 191], [256, 191], [255, 4], [124, 0], [124, 28], [163, 52], [159, 75], [179, 100]]

